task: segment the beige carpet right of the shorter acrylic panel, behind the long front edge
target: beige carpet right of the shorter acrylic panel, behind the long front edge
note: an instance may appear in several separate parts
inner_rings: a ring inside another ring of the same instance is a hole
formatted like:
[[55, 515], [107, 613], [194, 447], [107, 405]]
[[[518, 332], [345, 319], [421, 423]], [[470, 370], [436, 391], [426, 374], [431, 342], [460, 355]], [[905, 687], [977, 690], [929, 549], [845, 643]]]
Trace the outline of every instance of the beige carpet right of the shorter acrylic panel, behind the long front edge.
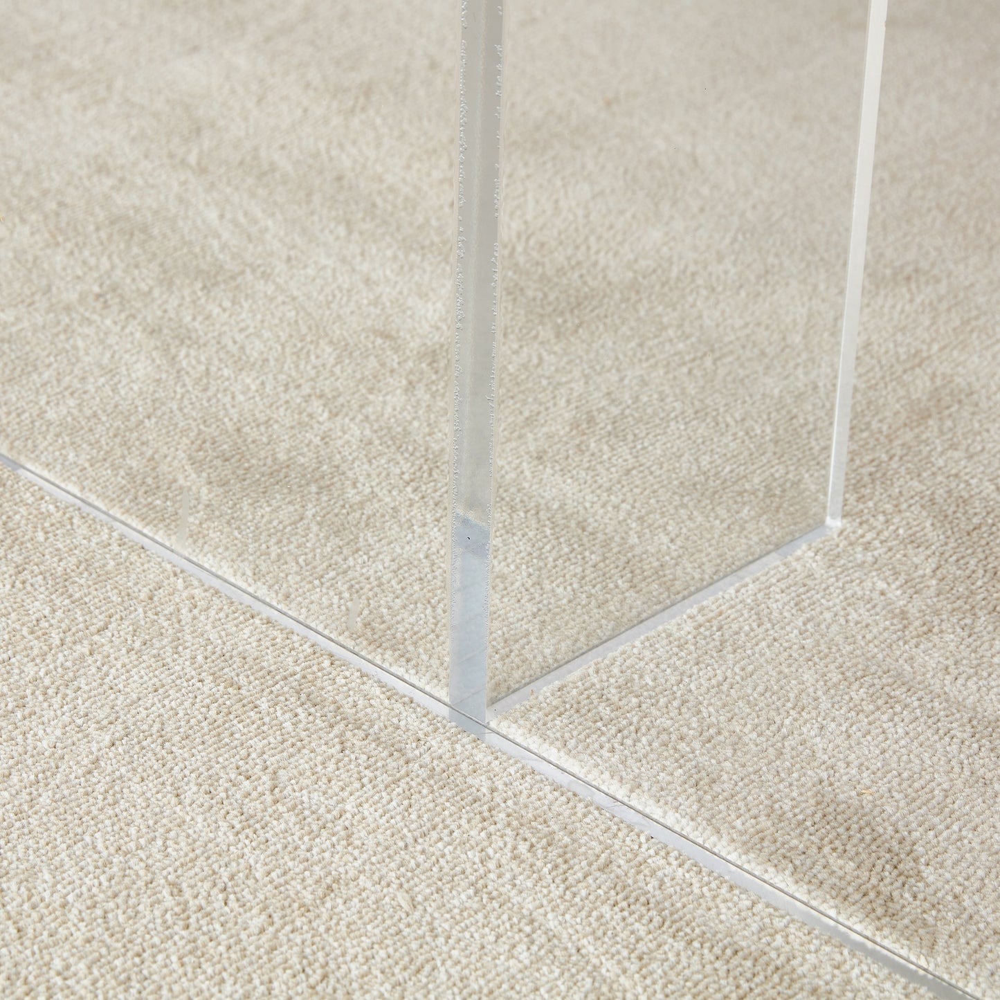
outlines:
[[502, 728], [1000, 996], [1000, 22], [890, 13], [845, 525]]

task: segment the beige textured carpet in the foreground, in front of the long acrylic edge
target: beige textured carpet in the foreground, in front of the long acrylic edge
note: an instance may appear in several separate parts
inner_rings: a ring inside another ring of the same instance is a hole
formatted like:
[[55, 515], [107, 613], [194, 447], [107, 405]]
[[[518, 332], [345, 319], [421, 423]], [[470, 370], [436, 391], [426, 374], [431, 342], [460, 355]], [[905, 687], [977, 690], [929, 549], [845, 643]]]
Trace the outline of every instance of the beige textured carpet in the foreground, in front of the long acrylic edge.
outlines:
[[0, 992], [918, 997], [0, 471]]

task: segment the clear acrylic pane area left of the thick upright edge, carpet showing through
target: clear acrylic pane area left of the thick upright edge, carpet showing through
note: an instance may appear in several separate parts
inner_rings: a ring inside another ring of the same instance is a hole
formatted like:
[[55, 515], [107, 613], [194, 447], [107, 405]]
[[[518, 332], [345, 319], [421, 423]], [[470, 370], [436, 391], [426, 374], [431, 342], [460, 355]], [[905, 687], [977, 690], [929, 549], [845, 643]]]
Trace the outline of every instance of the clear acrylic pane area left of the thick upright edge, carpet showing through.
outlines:
[[447, 691], [449, 0], [17, 4], [0, 450]]

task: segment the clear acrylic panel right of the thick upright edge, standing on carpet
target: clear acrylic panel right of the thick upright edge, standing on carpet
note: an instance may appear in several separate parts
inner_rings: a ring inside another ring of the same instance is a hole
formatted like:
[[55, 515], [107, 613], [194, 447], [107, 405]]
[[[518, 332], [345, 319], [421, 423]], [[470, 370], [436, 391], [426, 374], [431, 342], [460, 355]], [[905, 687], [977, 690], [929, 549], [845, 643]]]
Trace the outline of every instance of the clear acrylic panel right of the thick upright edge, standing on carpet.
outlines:
[[824, 524], [866, 23], [507, 7], [493, 700]]

